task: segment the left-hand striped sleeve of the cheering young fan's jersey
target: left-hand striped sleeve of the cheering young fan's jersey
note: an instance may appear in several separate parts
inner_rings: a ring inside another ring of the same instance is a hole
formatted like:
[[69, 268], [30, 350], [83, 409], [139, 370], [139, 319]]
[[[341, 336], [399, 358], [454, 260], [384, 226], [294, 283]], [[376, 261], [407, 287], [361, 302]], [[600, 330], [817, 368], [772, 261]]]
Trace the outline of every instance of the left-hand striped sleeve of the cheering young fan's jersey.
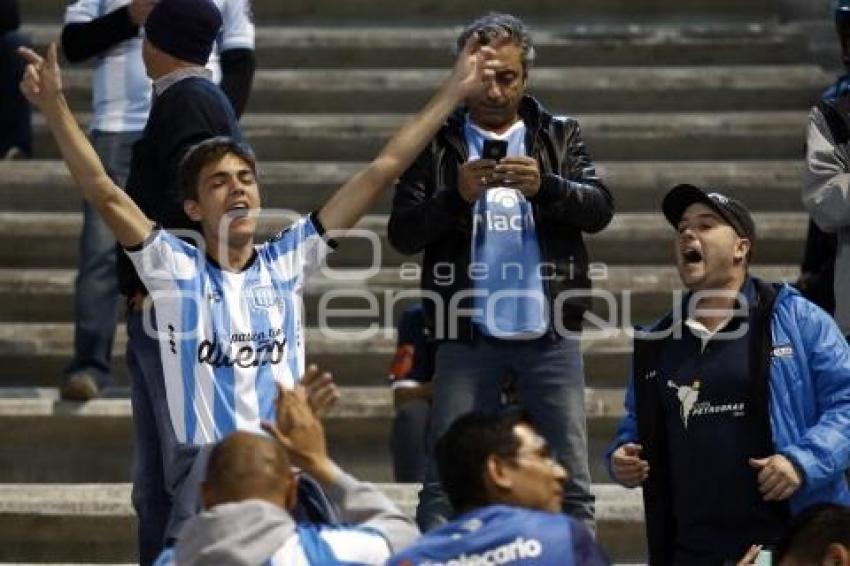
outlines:
[[140, 246], [125, 248], [148, 291], [170, 290], [174, 282], [197, 277], [197, 248], [166, 230], [155, 229]]

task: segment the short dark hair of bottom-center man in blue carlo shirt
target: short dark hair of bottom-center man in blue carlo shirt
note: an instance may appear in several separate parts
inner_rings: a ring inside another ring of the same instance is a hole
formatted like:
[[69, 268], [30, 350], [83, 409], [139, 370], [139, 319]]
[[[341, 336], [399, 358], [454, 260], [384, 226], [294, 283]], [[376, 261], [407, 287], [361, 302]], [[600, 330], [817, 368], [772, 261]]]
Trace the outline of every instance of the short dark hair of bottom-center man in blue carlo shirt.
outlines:
[[518, 411], [472, 412], [458, 418], [440, 437], [434, 449], [437, 471], [455, 511], [492, 503], [484, 481], [487, 459], [516, 456], [520, 440], [514, 427], [525, 422]]

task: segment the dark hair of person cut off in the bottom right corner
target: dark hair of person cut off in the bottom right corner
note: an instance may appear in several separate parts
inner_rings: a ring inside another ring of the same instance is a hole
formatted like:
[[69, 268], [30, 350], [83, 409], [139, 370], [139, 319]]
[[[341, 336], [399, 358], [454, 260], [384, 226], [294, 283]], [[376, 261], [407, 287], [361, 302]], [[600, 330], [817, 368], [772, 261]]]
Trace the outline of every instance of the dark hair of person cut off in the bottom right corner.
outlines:
[[850, 507], [818, 503], [794, 517], [773, 558], [776, 564], [788, 557], [804, 564], [820, 564], [831, 544], [850, 548]]

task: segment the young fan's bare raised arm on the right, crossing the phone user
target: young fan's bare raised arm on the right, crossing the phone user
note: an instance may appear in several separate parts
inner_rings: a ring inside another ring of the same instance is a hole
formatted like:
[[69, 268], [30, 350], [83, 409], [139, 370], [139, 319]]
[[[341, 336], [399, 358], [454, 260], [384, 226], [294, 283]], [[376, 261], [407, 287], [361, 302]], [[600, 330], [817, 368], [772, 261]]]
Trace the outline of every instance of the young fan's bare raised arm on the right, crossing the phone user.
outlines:
[[319, 210], [326, 230], [347, 230], [372, 207], [384, 189], [407, 169], [434, 137], [443, 120], [493, 73], [494, 51], [470, 38], [451, 76], [428, 104], [402, 127], [365, 169], [349, 179]]

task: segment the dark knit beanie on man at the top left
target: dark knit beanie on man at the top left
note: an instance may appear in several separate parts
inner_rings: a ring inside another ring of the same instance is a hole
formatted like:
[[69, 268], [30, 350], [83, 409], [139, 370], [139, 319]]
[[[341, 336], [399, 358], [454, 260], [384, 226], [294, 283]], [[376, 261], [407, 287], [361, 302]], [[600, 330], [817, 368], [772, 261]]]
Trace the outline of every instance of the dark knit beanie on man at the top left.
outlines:
[[145, 22], [145, 36], [181, 61], [206, 65], [221, 29], [221, 13], [210, 0], [160, 0]]

